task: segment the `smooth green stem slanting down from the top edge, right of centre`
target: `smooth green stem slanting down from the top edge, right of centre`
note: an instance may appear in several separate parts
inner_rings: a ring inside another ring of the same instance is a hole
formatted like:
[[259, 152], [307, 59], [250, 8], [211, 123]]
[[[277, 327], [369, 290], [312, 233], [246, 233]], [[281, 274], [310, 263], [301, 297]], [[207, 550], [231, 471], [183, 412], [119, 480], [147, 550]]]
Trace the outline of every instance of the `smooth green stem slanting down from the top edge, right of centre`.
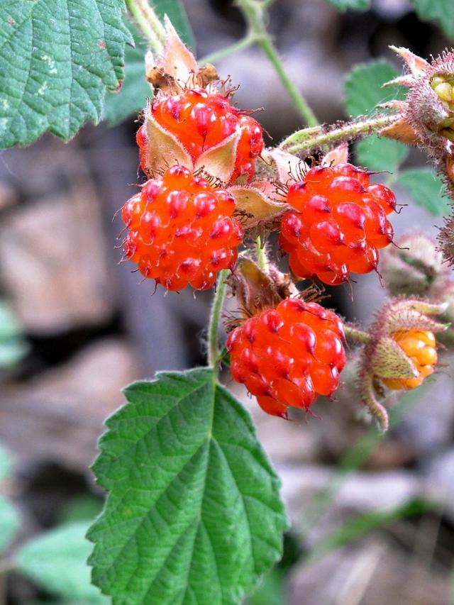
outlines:
[[292, 79], [287, 75], [275, 45], [272, 43], [269, 33], [267, 33], [265, 26], [265, 9], [270, 2], [260, 0], [237, 0], [237, 4], [248, 23], [248, 35], [253, 36], [268, 60], [270, 60], [271, 65], [275, 68], [275, 72], [279, 76], [284, 88], [287, 90], [290, 99], [294, 102], [299, 114], [306, 124], [309, 126], [316, 126], [319, 121], [317, 120], [314, 111], [311, 110], [306, 99], [304, 99], [304, 96], [299, 92], [292, 82]]

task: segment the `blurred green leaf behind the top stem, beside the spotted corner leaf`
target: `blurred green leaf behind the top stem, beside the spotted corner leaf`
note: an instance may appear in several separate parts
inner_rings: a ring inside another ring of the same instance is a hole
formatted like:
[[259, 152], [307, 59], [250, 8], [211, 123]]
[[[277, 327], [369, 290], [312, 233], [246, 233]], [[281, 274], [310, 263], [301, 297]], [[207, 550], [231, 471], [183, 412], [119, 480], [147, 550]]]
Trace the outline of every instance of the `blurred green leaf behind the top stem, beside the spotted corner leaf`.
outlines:
[[[153, 6], [161, 17], [167, 14], [182, 40], [194, 48], [194, 37], [182, 3], [178, 0], [155, 0]], [[126, 48], [125, 79], [121, 90], [106, 96], [104, 116], [112, 126], [138, 113], [145, 107], [147, 97], [152, 96], [150, 84], [145, 79], [147, 45], [131, 23], [127, 26], [133, 35], [135, 48]]]

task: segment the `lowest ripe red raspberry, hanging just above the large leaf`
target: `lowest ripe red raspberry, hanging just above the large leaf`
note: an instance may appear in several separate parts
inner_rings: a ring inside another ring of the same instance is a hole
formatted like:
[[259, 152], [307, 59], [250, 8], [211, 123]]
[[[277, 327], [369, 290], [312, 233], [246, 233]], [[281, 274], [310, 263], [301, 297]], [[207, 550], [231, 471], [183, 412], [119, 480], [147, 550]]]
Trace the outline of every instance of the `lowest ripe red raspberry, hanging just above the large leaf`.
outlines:
[[265, 412], [285, 417], [288, 406], [307, 409], [317, 394], [336, 391], [345, 365], [343, 338], [336, 313], [285, 299], [228, 336], [231, 373]]

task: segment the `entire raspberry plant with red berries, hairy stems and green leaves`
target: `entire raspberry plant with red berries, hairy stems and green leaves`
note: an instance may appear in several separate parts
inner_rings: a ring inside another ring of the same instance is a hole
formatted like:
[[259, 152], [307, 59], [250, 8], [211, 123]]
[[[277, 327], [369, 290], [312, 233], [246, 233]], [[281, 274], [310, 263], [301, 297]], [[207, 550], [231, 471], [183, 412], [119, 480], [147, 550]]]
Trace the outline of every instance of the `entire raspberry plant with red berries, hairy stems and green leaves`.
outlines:
[[[370, 4], [331, 1], [339, 9]], [[356, 362], [358, 403], [382, 431], [389, 394], [436, 372], [437, 339], [453, 343], [454, 219], [445, 219], [438, 244], [406, 235], [407, 254], [394, 245], [398, 205], [388, 186], [398, 182], [434, 215], [449, 213], [454, 54], [427, 62], [392, 47], [403, 76], [384, 60], [359, 65], [345, 81], [350, 121], [327, 126], [272, 44], [269, 1], [238, 0], [247, 35], [199, 62], [178, 1], [25, 4], [0, 9], [0, 57], [9, 65], [0, 74], [1, 146], [26, 145], [46, 130], [69, 140], [86, 121], [116, 123], [140, 111], [145, 178], [121, 211], [124, 255], [167, 291], [216, 284], [207, 366], [129, 385], [126, 404], [106, 421], [93, 467], [108, 496], [88, 533], [92, 581], [116, 604], [240, 603], [279, 560], [288, 520], [279, 479], [220, 367], [283, 422], [291, 409], [311, 411], [319, 395], [336, 396], [345, 365]], [[454, 35], [445, 1], [414, 0], [414, 9]], [[253, 44], [304, 123], [274, 148], [216, 72], [217, 59]], [[427, 152], [438, 177], [401, 170], [408, 145]], [[375, 178], [381, 170], [392, 177]], [[270, 254], [272, 233], [288, 255], [286, 273]], [[419, 245], [426, 253], [415, 253]], [[339, 286], [352, 273], [379, 272], [377, 250], [390, 296], [363, 331], [322, 306], [314, 282]], [[226, 292], [237, 302], [231, 316], [223, 316]], [[77, 526], [57, 539], [74, 531], [80, 538]], [[52, 536], [20, 557], [37, 582], [33, 556], [46, 548]]]

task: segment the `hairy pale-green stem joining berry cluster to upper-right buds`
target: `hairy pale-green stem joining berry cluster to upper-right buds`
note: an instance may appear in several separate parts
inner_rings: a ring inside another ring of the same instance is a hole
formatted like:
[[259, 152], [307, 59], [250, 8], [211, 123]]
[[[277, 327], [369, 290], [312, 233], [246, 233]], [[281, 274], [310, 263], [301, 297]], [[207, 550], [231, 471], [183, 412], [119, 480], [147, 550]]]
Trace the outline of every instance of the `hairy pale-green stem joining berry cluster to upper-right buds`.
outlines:
[[289, 153], [299, 153], [322, 148], [324, 145], [333, 146], [341, 141], [347, 141], [379, 131], [381, 128], [397, 122], [400, 117], [399, 113], [393, 116], [377, 116], [375, 118], [368, 118], [367, 120], [347, 123], [328, 132], [324, 132], [320, 128], [320, 130], [314, 131], [313, 134], [307, 133], [305, 129], [287, 137], [282, 141], [280, 147]]

